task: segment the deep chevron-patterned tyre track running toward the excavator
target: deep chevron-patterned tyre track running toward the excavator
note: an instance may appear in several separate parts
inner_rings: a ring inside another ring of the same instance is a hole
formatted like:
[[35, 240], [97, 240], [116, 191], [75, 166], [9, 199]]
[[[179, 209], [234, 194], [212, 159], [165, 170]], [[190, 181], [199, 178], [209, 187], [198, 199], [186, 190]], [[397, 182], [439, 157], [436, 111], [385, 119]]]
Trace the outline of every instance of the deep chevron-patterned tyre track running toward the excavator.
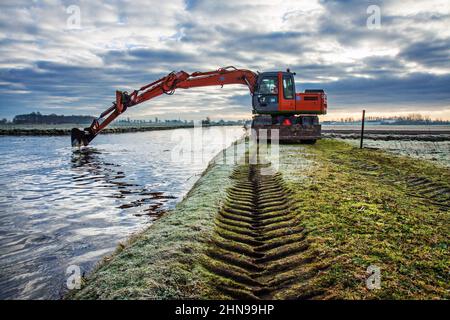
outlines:
[[261, 169], [235, 169], [206, 251], [203, 265], [214, 287], [231, 298], [271, 299], [317, 273], [304, 271], [314, 256], [288, 188], [280, 174], [263, 175]]

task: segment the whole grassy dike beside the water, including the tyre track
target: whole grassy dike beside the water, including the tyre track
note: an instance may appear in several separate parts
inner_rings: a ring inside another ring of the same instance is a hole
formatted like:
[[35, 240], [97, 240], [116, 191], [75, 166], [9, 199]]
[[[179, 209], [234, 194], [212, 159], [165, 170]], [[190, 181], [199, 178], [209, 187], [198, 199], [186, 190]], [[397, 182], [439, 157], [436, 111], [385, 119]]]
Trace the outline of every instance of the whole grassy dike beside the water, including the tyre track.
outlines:
[[275, 160], [272, 176], [211, 164], [67, 298], [450, 297], [448, 168], [336, 140]]

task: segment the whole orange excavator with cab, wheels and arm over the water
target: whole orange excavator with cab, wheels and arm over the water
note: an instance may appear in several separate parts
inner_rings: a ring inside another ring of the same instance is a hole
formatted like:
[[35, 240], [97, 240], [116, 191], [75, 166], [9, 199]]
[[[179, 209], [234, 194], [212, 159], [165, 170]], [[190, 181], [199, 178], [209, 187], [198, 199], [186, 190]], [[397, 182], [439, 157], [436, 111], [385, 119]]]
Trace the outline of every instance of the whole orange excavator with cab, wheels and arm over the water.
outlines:
[[[317, 115], [326, 114], [327, 96], [323, 90], [295, 92], [295, 73], [253, 72], [235, 67], [209, 72], [171, 72], [167, 76], [131, 93], [116, 91], [116, 101], [82, 130], [73, 128], [72, 146], [87, 146], [108, 124], [136, 106], [162, 94], [172, 95], [176, 89], [189, 89], [228, 84], [246, 85], [252, 96], [253, 132], [271, 139], [270, 132], [278, 130], [282, 142], [314, 143], [321, 136]], [[263, 133], [264, 132], [264, 133]]]

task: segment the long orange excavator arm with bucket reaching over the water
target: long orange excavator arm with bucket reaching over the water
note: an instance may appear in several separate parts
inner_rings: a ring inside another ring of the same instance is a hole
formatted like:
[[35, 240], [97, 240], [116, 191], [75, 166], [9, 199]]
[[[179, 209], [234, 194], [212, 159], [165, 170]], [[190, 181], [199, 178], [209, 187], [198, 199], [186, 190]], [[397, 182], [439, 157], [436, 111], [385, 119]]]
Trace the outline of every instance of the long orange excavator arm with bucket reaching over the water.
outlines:
[[90, 127], [80, 130], [72, 129], [72, 146], [87, 146], [97, 134], [116, 119], [128, 108], [142, 102], [156, 98], [162, 94], [173, 94], [176, 89], [189, 89], [214, 85], [243, 84], [250, 94], [254, 93], [258, 75], [250, 70], [236, 69], [235, 67], [220, 68], [216, 71], [194, 72], [188, 74], [184, 71], [171, 72], [142, 88], [128, 92], [116, 91], [116, 101], [95, 119]]

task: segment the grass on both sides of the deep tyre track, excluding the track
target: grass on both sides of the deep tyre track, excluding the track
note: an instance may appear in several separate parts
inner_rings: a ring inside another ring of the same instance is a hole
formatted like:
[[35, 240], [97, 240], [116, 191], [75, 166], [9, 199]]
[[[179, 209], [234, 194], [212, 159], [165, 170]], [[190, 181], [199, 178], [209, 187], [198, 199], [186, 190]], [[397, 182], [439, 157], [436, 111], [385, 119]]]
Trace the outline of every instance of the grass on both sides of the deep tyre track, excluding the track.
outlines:
[[[282, 145], [279, 161], [307, 248], [296, 256], [305, 264], [290, 271], [298, 281], [275, 298], [449, 298], [449, 203], [407, 183], [425, 177], [450, 187], [448, 168], [335, 140]], [[226, 277], [204, 266], [214, 219], [232, 201], [233, 168], [212, 164], [175, 210], [119, 246], [67, 298], [226, 298], [215, 288]], [[381, 289], [366, 287], [370, 265], [381, 269]]]

